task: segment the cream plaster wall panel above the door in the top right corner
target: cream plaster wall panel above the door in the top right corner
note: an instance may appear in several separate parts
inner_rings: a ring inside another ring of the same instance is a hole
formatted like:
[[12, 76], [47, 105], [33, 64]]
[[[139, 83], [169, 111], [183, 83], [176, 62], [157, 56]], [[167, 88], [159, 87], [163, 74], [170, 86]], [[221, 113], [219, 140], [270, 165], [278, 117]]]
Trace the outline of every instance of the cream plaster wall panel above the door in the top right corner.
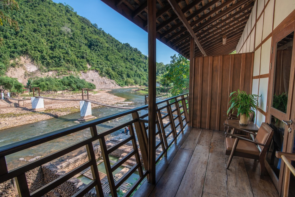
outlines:
[[274, 29], [295, 9], [294, 0], [276, 0]]

